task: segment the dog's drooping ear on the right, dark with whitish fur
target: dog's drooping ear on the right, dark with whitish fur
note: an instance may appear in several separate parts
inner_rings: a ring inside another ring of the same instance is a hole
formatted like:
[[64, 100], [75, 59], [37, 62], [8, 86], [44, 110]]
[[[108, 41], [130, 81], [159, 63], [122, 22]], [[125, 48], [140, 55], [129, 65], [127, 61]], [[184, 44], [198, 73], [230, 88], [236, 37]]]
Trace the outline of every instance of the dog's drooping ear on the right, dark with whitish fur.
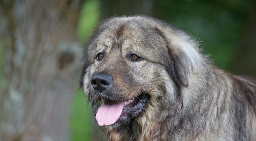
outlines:
[[165, 39], [171, 60], [168, 63], [169, 71], [174, 79], [183, 87], [188, 87], [189, 74], [202, 60], [198, 51], [198, 44], [184, 32], [172, 26], [158, 29]]

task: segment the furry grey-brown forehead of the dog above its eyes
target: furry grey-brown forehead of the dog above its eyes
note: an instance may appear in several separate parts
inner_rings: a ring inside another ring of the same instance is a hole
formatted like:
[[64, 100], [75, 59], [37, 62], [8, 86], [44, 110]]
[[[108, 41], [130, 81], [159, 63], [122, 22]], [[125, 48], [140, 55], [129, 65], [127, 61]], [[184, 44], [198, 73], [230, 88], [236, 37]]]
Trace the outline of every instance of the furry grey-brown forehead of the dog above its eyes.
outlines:
[[[140, 49], [165, 44], [162, 36], [154, 27], [138, 21], [123, 21], [107, 24], [99, 36], [99, 44], [105, 47]], [[153, 49], [153, 48], [152, 48]]]

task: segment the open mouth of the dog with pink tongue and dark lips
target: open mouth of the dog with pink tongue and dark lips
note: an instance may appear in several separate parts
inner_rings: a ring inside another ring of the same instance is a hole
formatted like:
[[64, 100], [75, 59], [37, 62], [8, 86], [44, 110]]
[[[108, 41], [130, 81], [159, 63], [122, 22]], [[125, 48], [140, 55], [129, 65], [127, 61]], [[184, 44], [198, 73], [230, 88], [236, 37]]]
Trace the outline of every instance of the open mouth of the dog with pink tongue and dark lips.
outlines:
[[127, 124], [140, 115], [148, 98], [148, 94], [142, 93], [129, 101], [106, 100], [96, 113], [96, 121], [99, 126]]

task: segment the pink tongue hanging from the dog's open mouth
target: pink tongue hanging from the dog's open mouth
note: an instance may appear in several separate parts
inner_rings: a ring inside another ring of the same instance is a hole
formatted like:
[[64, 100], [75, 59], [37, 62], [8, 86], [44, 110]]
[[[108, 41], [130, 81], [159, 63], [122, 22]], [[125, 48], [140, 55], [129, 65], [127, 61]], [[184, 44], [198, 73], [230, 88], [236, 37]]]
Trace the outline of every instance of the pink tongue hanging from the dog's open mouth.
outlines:
[[122, 101], [118, 103], [104, 103], [97, 111], [96, 121], [99, 126], [114, 124], [119, 119], [122, 110]]

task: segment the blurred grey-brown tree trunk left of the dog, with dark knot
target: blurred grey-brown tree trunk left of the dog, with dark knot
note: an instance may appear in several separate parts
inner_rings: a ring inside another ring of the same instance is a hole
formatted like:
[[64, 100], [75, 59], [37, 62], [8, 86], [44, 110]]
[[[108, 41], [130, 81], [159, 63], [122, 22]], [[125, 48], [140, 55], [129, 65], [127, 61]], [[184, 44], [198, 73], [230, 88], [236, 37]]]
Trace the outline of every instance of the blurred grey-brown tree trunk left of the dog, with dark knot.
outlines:
[[0, 0], [0, 140], [69, 139], [81, 3]]

